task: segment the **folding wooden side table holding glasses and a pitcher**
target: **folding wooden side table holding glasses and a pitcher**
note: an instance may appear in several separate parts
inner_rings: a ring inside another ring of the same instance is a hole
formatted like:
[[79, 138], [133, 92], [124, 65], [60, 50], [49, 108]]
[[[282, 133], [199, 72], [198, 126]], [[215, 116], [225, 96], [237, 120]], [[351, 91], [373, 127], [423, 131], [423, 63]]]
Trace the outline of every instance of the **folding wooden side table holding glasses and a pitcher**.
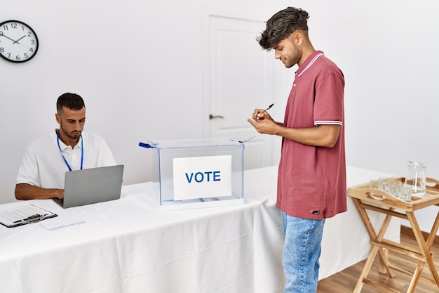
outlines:
[[[404, 178], [399, 178], [399, 180], [404, 182]], [[433, 205], [439, 205], [439, 181], [436, 181], [432, 178], [427, 178], [427, 183], [432, 183], [428, 185], [434, 185], [434, 183], [436, 184], [433, 187], [427, 187], [427, 192], [422, 197], [412, 197], [412, 200], [407, 202], [400, 200], [398, 197], [394, 197], [393, 195], [390, 195], [383, 190], [370, 189], [369, 185], [363, 185], [358, 186], [357, 188], [348, 189], [348, 195], [353, 198], [353, 201], [356, 204], [361, 219], [363, 219], [367, 232], [370, 235], [370, 243], [372, 244], [370, 254], [369, 256], [367, 256], [367, 261], [363, 268], [363, 272], [361, 273], [357, 285], [353, 291], [354, 293], [360, 293], [361, 289], [363, 289], [364, 284], [374, 287], [378, 290], [378, 292], [398, 293], [395, 290], [390, 289], [389, 287], [381, 285], [367, 278], [367, 275], [370, 272], [370, 268], [372, 267], [372, 263], [377, 254], [379, 254], [379, 258], [384, 264], [384, 268], [387, 273], [389, 273], [391, 278], [394, 278], [396, 276], [394, 271], [408, 273], [413, 276], [407, 289], [407, 293], [414, 292], [414, 288], [416, 287], [417, 282], [420, 278], [432, 282], [433, 285], [435, 285], [436, 289], [438, 289], [439, 291], [439, 275], [430, 253], [431, 246], [433, 245], [435, 235], [438, 232], [439, 228], [439, 213], [436, 216], [427, 240], [424, 239], [421, 229], [419, 228], [416, 216], [414, 215], [414, 211], [424, 209], [426, 207], [431, 207]], [[375, 232], [375, 229], [370, 222], [369, 216], [367, 216], [367, 209], [370, 211], [377, 211], [379, 213], [386, 214], [381, 228], [379, 229], [379, 233]], [[406, 219], [410, 222], [410, 226], [413, 230], [414, 237], [417, 240], [418, 247], [401, 245], [400, 243], [392, 242], [384, 238], [392, 216], [396, 216], [400, 219]], [[390, 263], [389, 259], [386, 256], [386, 249], [397, 252], [399, 254], [403, 254], [408, 257], [412, 257], [413, 259], [417, 259], [419, 262], [417, 267], [414, 269], [414, 272], [404, 270], [403, 268], [399, 268], [398, 266]], [[421, 273], [425, 265], [427, 265], [431, 273], [431, 279], [421, 277]]]

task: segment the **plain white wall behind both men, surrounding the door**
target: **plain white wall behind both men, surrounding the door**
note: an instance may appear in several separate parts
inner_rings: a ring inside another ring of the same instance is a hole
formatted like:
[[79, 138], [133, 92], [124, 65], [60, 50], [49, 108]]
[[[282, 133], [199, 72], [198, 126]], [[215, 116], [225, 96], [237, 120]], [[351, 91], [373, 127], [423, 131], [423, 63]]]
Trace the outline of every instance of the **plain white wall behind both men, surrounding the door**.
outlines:
[[[268, 19], [286, 6], [309, 11], [314, 46], [346, 76], [348, 164], [405, 176], [407, 159], [417, 159], [439, 178], [438, 1], [17, 0], [2, 4], [0, 20], [27, 22], [41, 46], [29, 63], [0, 60], [0, 202], [14, 200], [22, 153], [57, 126], [55, 100], [66, 91], [86, 100], [86, 130], [126, 165], [124, 182], [149, 180], [139, 141], [205, 135], [206, 9]], [[285, 93], [294, 71], [279, 81]], [[273, 110], [282, 119], [283, 109]], [[421, 215], [423, 230], [434, 213]]]

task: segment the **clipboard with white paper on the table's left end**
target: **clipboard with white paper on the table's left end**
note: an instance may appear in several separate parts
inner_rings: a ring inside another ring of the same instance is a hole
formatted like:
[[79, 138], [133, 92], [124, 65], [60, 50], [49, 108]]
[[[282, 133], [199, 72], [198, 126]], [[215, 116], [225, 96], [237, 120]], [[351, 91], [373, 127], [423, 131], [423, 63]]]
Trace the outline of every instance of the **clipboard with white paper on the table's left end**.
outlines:
[[0, 224], [13, 228], [54, 218], [55, 216], [58, 215], [46, 209], [41, 209], [41, 207], [36, 207], [34, 204], [29, 204], [27, 207], [2, 212], [0, 214]]

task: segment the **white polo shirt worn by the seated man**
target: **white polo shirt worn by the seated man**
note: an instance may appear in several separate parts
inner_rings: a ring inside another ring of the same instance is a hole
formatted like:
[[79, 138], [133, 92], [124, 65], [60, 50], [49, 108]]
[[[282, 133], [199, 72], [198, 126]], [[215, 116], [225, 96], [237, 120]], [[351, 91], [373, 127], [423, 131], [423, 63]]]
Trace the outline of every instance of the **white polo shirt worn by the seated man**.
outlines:
[[[82, 133], [83, 169], [116, 164], [112, 151], [97, 134]], [[72, 170], [81, 169], [81, 138], [72, 149], [60, 140], [60, 148]], [[69, 171], [58, 148], [55, 131], [29, 144], [18, 169], [16, 183], [28, 183], [41, 188], [64, 188], [65, 172]]]

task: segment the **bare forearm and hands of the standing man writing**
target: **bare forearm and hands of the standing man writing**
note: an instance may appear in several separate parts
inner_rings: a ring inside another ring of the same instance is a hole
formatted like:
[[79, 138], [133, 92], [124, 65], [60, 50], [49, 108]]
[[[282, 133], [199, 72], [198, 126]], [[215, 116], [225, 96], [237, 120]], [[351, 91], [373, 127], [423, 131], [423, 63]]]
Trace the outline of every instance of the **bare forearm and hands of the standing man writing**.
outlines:
[[[256, 113], [257, 111], [255, 110]], [[254, 115], [254, 117], [257, 122], [252, 119], [248, 119], [248, 122], [255, 127], [259, 134], [282, 136], [304, 145], [332, 148], [339, 137], [339, 125], [323, 124], [306, 128], [288, 128], [275, 122], [266, 112]]]

